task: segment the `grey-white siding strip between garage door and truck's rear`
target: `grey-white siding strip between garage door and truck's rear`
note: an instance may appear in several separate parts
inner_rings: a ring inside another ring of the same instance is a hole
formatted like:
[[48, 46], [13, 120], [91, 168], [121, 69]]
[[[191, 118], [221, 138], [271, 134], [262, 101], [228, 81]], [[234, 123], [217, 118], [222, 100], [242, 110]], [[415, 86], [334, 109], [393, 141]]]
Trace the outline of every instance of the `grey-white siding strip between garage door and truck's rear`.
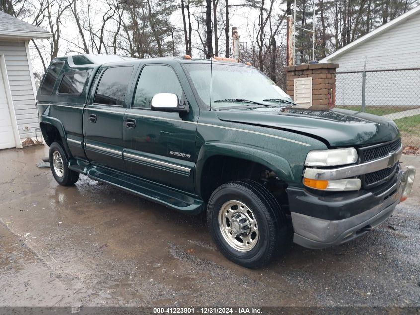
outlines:
[[[20, 139], [35, 138], [35, 129], [39, 127], [38, 114], [25, 42], [0, 39], [0, 54], [4, 55], [6, 63]], [[28, 131], [23, 130], [25, 126], [29, 127]]]

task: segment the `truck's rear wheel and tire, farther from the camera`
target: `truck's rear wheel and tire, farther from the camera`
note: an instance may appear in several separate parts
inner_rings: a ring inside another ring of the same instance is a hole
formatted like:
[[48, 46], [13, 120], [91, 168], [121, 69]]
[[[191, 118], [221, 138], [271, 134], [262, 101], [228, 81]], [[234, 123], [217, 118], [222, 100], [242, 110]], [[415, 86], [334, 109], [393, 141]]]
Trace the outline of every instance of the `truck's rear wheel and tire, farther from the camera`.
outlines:
[[71, 186], [78, 181], [79, 173], [69, 169], [69, 158], [60, 143], [53, 142], [50, 145], [48, 157], [51, 172], [57, 183], [62, 186]]

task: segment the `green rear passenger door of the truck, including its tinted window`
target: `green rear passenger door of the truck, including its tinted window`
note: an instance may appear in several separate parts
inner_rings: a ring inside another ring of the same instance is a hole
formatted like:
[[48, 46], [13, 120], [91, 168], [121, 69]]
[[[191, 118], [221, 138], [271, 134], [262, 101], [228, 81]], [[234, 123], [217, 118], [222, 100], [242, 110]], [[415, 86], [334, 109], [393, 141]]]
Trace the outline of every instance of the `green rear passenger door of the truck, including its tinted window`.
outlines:
[[133, 65], [102, 67], [84, 109], [84, 148], [93, 164], [124, 171], [123, 120]]

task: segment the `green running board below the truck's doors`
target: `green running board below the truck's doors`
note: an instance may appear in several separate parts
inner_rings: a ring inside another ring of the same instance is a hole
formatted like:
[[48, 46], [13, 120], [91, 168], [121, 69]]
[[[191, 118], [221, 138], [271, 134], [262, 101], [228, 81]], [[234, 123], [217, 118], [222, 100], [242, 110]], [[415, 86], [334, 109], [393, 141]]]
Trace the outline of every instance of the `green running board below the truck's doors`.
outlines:
[[104, 167], [91, 166], [86, 175], [91, 179], [111, 184], [120, 189], [154, 201], [178, 211], [198, 214], [203, 210], [203, 201], [138, 177]]

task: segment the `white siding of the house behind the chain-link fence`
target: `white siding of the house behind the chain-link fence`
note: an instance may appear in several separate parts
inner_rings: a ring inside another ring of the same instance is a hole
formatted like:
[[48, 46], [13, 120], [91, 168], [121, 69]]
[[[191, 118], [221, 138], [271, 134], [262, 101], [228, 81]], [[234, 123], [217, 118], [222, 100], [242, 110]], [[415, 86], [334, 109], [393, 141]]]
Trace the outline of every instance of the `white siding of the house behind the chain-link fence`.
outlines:
[[[339, 72], [420, 67], [420, 13], [350, 48], [339, 64], [336, 105], [361, 105], [362, 74]], [[420, 105], [420, 70], [367, 72], [366, 105]]]

